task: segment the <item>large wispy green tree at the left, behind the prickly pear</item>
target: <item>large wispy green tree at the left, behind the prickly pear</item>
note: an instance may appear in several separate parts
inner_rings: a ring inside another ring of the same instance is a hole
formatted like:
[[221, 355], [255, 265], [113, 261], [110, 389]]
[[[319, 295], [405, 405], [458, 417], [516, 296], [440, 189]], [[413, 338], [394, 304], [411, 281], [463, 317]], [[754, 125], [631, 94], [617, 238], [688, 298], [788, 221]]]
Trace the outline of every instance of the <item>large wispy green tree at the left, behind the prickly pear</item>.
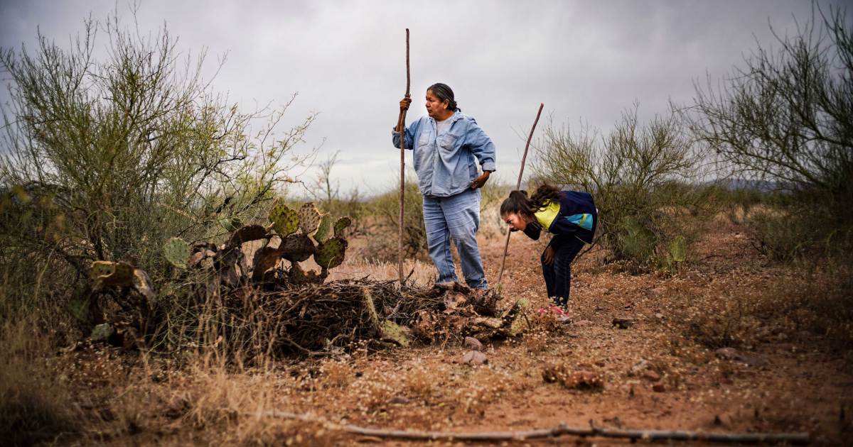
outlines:
[[114, 14], [68, 48], [39, 33], [33, 50], [0, 51], [7, 273], [74, 283], [89, 261], [125, 259], [156, 277], [167, 238], [215, 237], [292, 181], [313, 116], [276, 135], [289, 102], [241, 112], [203, 77], [204, 51], [181, 54], [165, 26], [145, 36]]

